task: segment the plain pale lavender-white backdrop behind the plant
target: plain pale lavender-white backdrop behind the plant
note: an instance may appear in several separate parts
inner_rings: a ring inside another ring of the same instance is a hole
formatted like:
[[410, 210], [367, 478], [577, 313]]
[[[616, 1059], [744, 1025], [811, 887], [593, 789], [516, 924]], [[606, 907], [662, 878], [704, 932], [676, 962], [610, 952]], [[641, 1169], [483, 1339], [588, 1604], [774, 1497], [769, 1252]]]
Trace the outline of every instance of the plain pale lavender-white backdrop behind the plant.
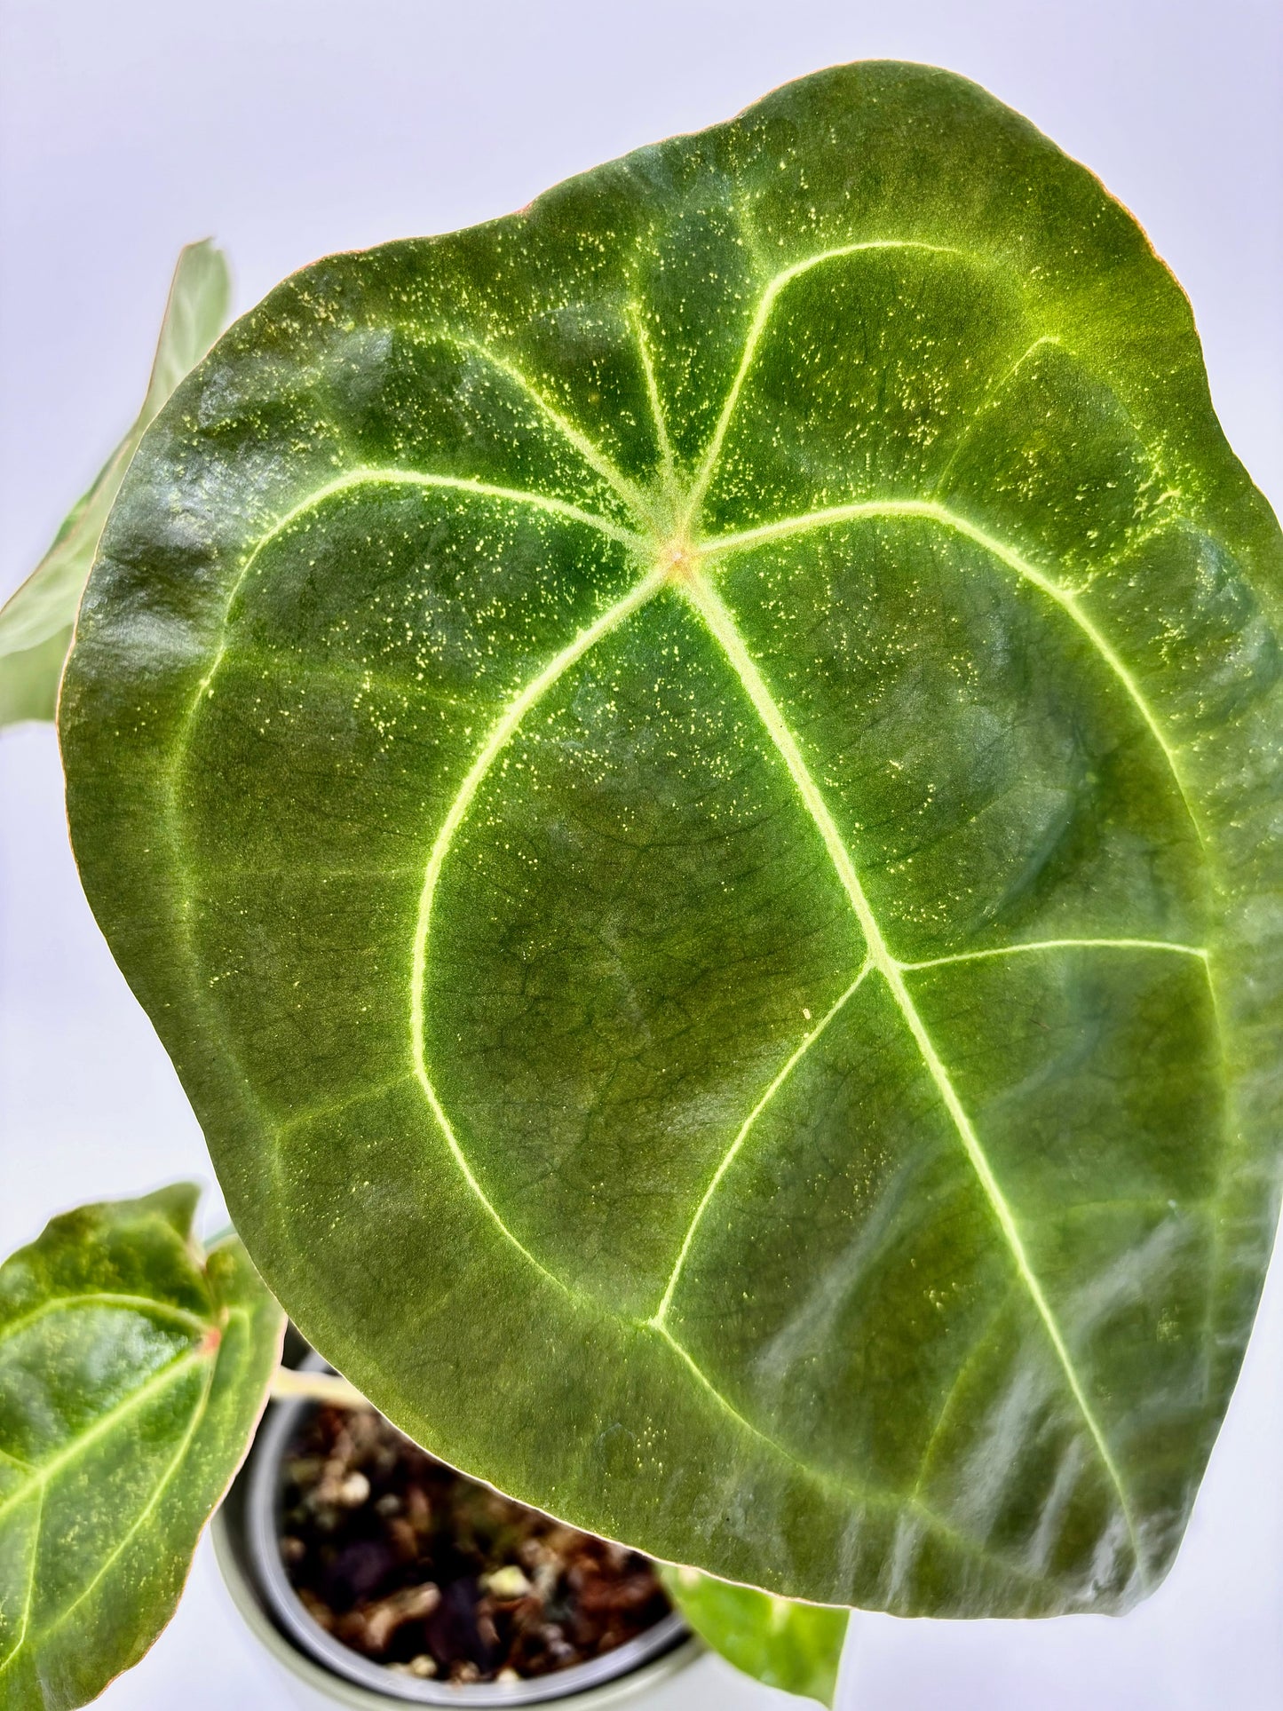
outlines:
[[[984, 82], [1138, 214], [1194, 301], [1230, 440], [1280, 505], [1278, 0], [3, 0], [0, 595], [132, 417], [180, 245], [217, 236], [243, 310], [327, 250], [505, 214], [789, 77], [876, 56]], [[0, 737], [0, 1251], [75, 1201], [209, 1181], [80, 897], [41, 727]], [[718, 1670], [677, 1697], [773, 1701]], [[106, 1702], [281, 1702], [205, 1555], [173, 1629]], [[1278, 1266], [1160, 1593], [1124, 1620], [859, 1617], [843, 1704], [1280, 1711]]]

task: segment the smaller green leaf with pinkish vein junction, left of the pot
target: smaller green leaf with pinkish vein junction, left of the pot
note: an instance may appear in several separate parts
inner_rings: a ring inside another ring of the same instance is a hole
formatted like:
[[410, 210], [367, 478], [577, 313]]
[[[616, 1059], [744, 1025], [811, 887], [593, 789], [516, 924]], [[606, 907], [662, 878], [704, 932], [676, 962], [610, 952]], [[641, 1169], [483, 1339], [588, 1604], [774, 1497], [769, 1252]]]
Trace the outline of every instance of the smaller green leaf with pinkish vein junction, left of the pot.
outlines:
[[80, 1706], [174, 1612], [282, 1316], [197, 1189], [82, 1206], [0, 1266], [0, 1706]]

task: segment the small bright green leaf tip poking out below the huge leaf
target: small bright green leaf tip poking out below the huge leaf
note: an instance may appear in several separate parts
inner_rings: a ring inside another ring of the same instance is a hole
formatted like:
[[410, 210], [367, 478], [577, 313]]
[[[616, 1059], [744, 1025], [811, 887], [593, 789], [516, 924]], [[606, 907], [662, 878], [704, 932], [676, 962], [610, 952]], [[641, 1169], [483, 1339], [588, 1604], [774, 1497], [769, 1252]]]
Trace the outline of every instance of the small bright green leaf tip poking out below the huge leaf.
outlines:
[[664, 1567], [664, 1586], [695, 1632], [744, 1675], [833, 1704], [850, 1610], [732, 1586], [698, 1569]]

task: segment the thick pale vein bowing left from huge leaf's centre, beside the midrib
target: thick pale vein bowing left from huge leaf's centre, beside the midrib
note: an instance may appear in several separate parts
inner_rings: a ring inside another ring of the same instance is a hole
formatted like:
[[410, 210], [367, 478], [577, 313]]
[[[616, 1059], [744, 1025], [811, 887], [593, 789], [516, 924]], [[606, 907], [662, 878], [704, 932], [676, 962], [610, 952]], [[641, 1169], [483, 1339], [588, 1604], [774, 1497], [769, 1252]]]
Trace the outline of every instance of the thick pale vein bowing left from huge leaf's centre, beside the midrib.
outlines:
[[500, 720], [491, 729], [491, 734], [482, 743], [477, 751], [477, 758], [472, 761], [458, 792], [450, 804], [450, 809], [441, 821], [441, 826], [433, 842], [431, 852], [428, 856], [428, 866], [424, 869], [423, 891], [419, 893], [419, 914], [414, 929], [414, 955], [411, 962], [411, 1054], [414, 1075], [423, 1088], [423, 1095], [428, 1100], [428, 1107], [433, 1112], [436, 1124], [445, 1136], [445, 1143], [458, 1167], [469, 1189], [501, 1232], [501, 1235], [511, 1242], [511, 1246], [541, 1273], [549, 1283], [554, 1283], [565, 1294], [575, 1294], [570, 1287], [549, 1271], [539, 1259], [525, 1247], [525, 1244], [508, 1228], [505, 1220], [500, 1217], [498, 1208], [486, 1194], [484, 1187], [477, 1181], [467, 1157], [458, 1145], [453, 1126], [445, 1114], [445, 1109], [433, 1086], [433, 1078], [428, 1069], [428, 1039], [426, 1039], [426, 1013], [424, 1013], [424, 992], [428, 984], [428, 938], [431, 932], [433, 917], [433, 898], [436, 893], [438, 879], [441, 878], [441, 867], [450, 854], [450, 847], [455, 840], [458, 828], [467, 818], [467, 811], [481, 789], [486, 773], [498, 760], [500, 753], [506, 748], [508, 741], [515, 734], [520, 722], [530, 712], [530, 708], [553, 688], [553, 684], [566, 672], [570, 667], [582, 659], [588, 648], [595, 647], [602, 636], [616, 630], [626, 618], [653, 599], [660, 589], [669, 582], [667, 570], [655, 568], [648, 575], [642, 577], [640, 582], [614, 606], [600, 613], [600, 616], [582, 630], [573, 642], [570, 642], [561, 652], [544, 666], [544, 669], [527, 683], [527, 686], [515, 696], [515, 700], [503, 712]]

